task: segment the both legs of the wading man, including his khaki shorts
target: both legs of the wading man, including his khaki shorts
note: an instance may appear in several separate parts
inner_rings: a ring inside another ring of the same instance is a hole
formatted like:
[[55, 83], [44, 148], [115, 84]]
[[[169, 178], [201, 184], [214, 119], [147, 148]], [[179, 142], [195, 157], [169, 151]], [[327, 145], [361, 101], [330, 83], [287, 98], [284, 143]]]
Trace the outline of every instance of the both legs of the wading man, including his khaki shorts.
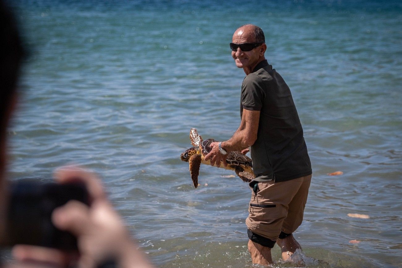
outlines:
[[[310, 179], [311, 176], [308, 178], [308, 182], [306, 182], [305, 177], [279, 183], [273, 181], [250, 182], [249, 186], [252, 189], [252, 195], [246, 225], [248, 238], [250, 239], [248, 241], [248, 250], [254, 264], [267, 265], [272, 263], [271, 248], [275, 245], [278, 235], [282, 238], [279, 243], [283, 244], [283, 248], [281, 248], [285, 254], [287, 254], [287, 251], [293, 254], [297, 249], [296, 245], [300, 248], [299, 243], [289, 234], [297, 229], [303, 219], [306, 200], [302, 200], [302, 204], [296, 206], [295, 203], [298, 203], [300, 199], [307, 199]], [[301, 198], [299, 198], [300, 193], [298, 193], [300, 188], [307, 188], [305, 189], [307, 192], [302, 191], [304, 193], [301, 194]], [[301, 210], [300, 206], [302, 207]], [[296, 215], [292, 215], [293, 213], [289, 215], [289, 208], [294, 209]], [[286, 224], [287, 227], [284, 228], [285, 219], [288, 219], [290, 224]], [[282, 232], [281, 229], [283, 229]], [[284, 231], [288, 231], [288, 229], [292, 230], [285, 234]], [[277, 234], [275, 234], [276, 232]], [[282, 243], [282, 241], [284, 242]], [[293, 248], [294, 250], [292, 251]]]

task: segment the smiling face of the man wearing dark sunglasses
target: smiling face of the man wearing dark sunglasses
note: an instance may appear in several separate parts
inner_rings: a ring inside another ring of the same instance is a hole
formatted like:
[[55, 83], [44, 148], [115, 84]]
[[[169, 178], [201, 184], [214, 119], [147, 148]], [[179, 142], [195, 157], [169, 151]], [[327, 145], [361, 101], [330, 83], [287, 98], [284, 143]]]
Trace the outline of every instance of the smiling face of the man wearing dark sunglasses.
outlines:
[[[256, 43], [254, 34], [249, 27], [241, 27], [233, 34], [232, 43]], [[232, 57], [238, 68], [254, 69], [260, 59], [260, 47], [256, 47], [250, 51], [242, 51], [240, 47], [237, 51], [232, 51]]]

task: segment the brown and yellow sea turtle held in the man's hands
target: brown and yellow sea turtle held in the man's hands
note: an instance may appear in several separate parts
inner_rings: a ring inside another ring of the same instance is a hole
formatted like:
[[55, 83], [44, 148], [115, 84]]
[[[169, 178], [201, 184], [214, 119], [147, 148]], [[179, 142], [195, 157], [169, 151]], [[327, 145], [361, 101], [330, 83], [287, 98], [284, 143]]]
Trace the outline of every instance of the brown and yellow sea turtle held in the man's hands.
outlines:
[[[198, 134], [197, 129], [190, 130], [190, 140], [193, 147], [184, 151], [180, 158], [182, 161], [189, 162], [189, 170], [191, 179], [193, 180], [195, 188], [198, 186], [198, 174], [201, 163], [211, 165], [211, 160], [205, 160], [205, 155], [211, 151], [209, 146], [214, 139], [207, 139], [203, 141], [202, 137]], [[226, 158], [228, 165], [225, 167], [221, 165], [220, 168], [234, 170], [236, 174], [244, 181], [250, 182], [254, 179], [252, 171], [252, 161], [240, 151], [231, 151]]]

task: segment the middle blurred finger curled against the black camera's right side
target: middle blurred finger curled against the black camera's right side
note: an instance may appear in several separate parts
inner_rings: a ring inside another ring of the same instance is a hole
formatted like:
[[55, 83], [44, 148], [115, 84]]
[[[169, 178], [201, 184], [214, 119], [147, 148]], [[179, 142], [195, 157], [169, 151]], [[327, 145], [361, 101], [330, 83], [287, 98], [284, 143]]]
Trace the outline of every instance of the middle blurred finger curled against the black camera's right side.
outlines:
[[70, 231], [76, 236], [91, 228], [89, 207], [76, 200], [56, 208], [52, 213], [52, 221], [57, 228]]

